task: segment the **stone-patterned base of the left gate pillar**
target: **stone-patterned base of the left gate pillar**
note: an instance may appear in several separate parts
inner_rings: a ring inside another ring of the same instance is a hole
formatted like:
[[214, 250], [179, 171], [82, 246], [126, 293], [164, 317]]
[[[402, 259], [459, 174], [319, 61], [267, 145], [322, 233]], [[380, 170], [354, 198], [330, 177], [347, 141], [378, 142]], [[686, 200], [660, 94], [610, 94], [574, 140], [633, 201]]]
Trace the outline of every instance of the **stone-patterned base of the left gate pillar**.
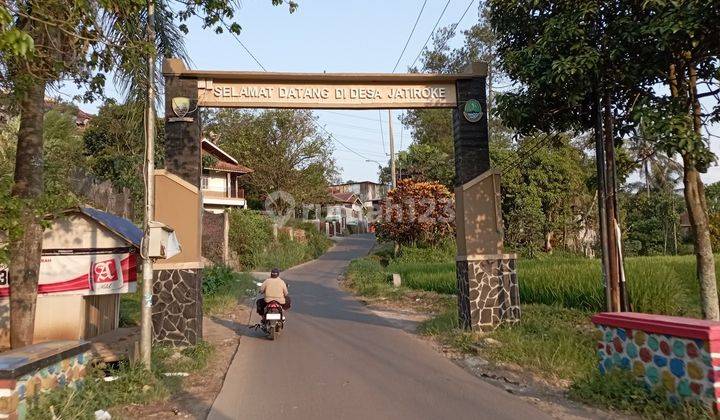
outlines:
[[194, 346], [202, 340], [202, 270], [158, 270], [153, 287], [156, 343]]

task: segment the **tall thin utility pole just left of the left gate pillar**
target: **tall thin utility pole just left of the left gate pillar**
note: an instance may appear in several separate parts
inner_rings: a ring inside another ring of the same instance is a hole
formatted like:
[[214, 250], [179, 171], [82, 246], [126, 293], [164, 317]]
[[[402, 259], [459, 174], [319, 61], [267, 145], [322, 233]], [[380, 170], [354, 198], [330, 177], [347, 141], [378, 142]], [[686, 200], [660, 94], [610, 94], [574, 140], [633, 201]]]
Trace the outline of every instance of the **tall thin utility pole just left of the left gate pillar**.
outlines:
[[145, 220], [142, 242], [143, 298], [140, 312], [140, 357], [148, 370], [152, 356], [153, 263], [149, 256], [150, 222], [155, 218], [155, 0], [147, 0], [147, 40], [150, 46], [145, 100]]

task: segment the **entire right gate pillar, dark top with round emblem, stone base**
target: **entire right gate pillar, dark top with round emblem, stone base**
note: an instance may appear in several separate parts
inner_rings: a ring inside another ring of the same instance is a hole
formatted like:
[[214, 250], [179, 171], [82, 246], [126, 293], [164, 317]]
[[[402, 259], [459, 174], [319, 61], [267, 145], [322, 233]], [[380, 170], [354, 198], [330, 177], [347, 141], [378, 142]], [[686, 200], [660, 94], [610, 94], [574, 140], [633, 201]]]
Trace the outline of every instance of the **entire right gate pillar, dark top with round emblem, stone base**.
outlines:
[[458, 312], [463, 328], [488, 331], [517, 321], [520, 302], [516, 257], [503, 253], [500, 174], [490, 169], [487, 67], [468, 70], [453, 110]]

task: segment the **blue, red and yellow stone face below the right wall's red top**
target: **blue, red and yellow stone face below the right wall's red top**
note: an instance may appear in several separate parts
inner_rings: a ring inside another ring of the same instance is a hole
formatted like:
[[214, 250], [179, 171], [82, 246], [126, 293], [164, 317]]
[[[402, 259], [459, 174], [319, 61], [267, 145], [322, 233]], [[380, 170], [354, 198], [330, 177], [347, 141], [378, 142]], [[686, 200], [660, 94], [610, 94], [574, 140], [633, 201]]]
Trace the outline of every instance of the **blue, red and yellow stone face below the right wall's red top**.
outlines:
[[[716, 404], [716, 376], [707, 341], [650, 334], [640, 330], [598, 325], [602, 335], [597, 344], [600, 372], [613, 368], [631, 370], [648, 389], [662, 387], [671, 401], [702, 400]], [[720, 373], [720, 372], [718, 372]]]

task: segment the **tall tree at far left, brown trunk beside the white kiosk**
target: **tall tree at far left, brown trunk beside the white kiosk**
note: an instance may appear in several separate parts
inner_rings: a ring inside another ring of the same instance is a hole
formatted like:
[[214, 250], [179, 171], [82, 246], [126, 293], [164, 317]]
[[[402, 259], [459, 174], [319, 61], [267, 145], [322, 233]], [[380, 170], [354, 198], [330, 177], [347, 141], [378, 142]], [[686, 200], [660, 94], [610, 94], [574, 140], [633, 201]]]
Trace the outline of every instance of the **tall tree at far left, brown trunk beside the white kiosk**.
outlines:
[[[291, 10], [296, 6], [289, 4]], [[33, 337], [42, 245], [41, 212], [33, 204], [43, 195], [45, 89], [69, 78], [86, 88], [85, 99], [92, 99], [102, 94], [106, 75], [118, 63], [144, 62], [143, 52], [154, 46], [126, 36], [143, 6], [134, 0], [17, 0], [0, 6], [0, 81], [13, 92], [20, 111], [12, 204], [6, 205], [21, 226], [9, 235], [12, 347], [30, 344]], [[239, 33], [237, 23], [226, 22], [235, 6], [232, 0], [175, 1], [165, 12], [172, 20], [199, 17], [205, 28]]]

